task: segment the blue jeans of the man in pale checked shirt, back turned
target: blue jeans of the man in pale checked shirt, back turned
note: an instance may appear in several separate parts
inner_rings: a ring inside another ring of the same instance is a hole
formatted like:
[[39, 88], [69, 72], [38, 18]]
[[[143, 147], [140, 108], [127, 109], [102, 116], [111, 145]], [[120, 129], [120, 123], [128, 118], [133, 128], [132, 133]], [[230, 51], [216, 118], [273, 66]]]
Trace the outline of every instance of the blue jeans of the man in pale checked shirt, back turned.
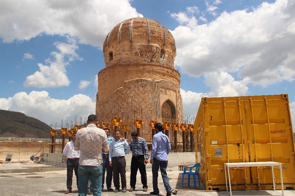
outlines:
[[100, 196], [101, 184], [102, 184], [102, 165], [99, 165], [99, 166], [79, 165], [78, 173], [79, 173], [79, 185], [78, 185], [79, 196], [86, 196], [89, 177], [91, 177], [93, 195]]

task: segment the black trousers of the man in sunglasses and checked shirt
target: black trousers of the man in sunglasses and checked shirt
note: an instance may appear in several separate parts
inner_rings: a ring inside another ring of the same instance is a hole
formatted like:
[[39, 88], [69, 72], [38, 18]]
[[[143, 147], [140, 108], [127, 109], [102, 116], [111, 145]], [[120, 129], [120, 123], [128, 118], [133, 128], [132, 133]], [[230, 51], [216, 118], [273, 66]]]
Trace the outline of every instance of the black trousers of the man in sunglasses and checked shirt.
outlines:
[[147, 172], [145, 170], [145, 156], [139, 155], [132, 156], [131, 159], [131, 174], [130, 174], [130, 187], [135, 189], [137, 170], [139, 169], [142, 188], [148, 188]]

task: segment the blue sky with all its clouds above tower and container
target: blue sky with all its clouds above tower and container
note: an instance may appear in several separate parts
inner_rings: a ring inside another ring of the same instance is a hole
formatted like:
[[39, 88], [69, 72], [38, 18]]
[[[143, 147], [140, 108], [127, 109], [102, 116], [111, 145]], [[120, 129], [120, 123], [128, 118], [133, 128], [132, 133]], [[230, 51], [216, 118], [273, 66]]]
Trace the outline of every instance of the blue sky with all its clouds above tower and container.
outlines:
[[295, 0], [1, 0], [0, 109], [58, 127], [95, 113], [103, 41], [140, 16], [175, 38], [184, 114], [201, 97], [287, 93], [295, 122], [294, 10]]

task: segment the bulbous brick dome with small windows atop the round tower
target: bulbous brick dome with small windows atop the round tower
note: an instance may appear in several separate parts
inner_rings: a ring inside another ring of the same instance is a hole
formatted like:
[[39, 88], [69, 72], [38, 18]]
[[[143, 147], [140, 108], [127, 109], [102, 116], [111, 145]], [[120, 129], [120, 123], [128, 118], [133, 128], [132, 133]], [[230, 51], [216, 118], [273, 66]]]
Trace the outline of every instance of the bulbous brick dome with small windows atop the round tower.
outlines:
[[109, 32], [103, 52], [106, 67], [149, 62], [174, 68], [176, 46], [170, 31], [159, 22], [137, 17], [124, 20]]

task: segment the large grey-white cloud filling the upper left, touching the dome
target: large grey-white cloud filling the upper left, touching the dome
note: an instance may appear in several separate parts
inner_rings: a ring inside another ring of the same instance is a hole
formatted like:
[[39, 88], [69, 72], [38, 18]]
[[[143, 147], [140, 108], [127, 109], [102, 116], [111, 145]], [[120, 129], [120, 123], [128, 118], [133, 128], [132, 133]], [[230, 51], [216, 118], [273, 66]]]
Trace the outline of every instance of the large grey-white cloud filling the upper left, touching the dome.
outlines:
[[30, 40], [40, 34], [78, 37], [79, 43], [102, 47], [113, 26], [142, 16], [128, 0], [0, 1], [0, 38]]

